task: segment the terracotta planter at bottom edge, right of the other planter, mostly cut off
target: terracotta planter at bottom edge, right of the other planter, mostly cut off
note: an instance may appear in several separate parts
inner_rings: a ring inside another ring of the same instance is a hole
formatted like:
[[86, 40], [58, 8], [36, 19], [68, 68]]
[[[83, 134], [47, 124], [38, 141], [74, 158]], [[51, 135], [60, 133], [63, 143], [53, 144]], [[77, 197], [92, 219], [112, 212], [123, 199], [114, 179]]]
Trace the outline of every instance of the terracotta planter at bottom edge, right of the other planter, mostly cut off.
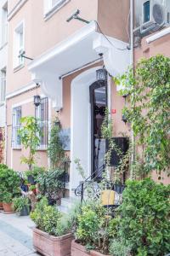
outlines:
[[73, 240], [71, 243], [71, 256], [109, 256], [96, 251], [87, 252], [86, 248]]

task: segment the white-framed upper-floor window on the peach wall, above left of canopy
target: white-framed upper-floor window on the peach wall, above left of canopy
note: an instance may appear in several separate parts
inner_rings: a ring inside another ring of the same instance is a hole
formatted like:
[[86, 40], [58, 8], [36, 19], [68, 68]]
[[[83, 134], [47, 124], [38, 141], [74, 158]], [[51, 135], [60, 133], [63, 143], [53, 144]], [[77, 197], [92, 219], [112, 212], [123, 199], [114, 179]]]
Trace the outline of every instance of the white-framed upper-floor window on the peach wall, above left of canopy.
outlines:
[[20, 56], [25, 49], [24, 36], [24, 22], [22, 21], [14, 30], [14, 67], [24, 64], [24, 58]]

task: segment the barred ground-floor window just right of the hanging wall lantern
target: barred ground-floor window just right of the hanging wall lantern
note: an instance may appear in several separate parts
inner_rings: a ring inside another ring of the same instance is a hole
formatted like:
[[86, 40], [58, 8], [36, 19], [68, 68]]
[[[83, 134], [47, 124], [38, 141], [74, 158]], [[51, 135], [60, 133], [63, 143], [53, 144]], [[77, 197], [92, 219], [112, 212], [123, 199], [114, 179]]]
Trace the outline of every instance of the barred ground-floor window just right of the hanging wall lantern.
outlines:
[[48, 145], [48, 97], [41, 99], [41, 104], [36, 108], [36, 118], [41, 127], [42, 135], [38, 149], [47, 149]]

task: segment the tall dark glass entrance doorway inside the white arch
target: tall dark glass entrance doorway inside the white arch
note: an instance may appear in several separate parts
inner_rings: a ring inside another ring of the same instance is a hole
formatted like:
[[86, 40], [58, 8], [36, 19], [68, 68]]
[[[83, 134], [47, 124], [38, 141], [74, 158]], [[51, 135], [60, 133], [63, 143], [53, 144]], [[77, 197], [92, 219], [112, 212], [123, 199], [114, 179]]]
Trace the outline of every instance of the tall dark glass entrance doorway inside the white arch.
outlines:
[[105, 139], [102, 138], [101, 126], [107, 107], [107, 82], [95, 82], [90, 86], [91, 102], [91, 172], [94, 177], [105, 166]]

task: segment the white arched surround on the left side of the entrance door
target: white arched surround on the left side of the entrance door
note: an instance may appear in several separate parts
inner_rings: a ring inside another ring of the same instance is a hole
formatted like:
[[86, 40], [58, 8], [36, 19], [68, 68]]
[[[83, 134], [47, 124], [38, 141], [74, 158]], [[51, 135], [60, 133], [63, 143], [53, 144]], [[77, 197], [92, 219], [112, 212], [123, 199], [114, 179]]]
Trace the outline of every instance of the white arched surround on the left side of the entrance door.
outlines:
[[79, 74], [71, 82], [71, 181], [70, 189], [74, 190], [82, 181], [77, 172], [75, 160], [80, 160], [86, 177], [91, 170], [91, 114], [89, 86], [96, 81], [96, 70], [93, 67]]

